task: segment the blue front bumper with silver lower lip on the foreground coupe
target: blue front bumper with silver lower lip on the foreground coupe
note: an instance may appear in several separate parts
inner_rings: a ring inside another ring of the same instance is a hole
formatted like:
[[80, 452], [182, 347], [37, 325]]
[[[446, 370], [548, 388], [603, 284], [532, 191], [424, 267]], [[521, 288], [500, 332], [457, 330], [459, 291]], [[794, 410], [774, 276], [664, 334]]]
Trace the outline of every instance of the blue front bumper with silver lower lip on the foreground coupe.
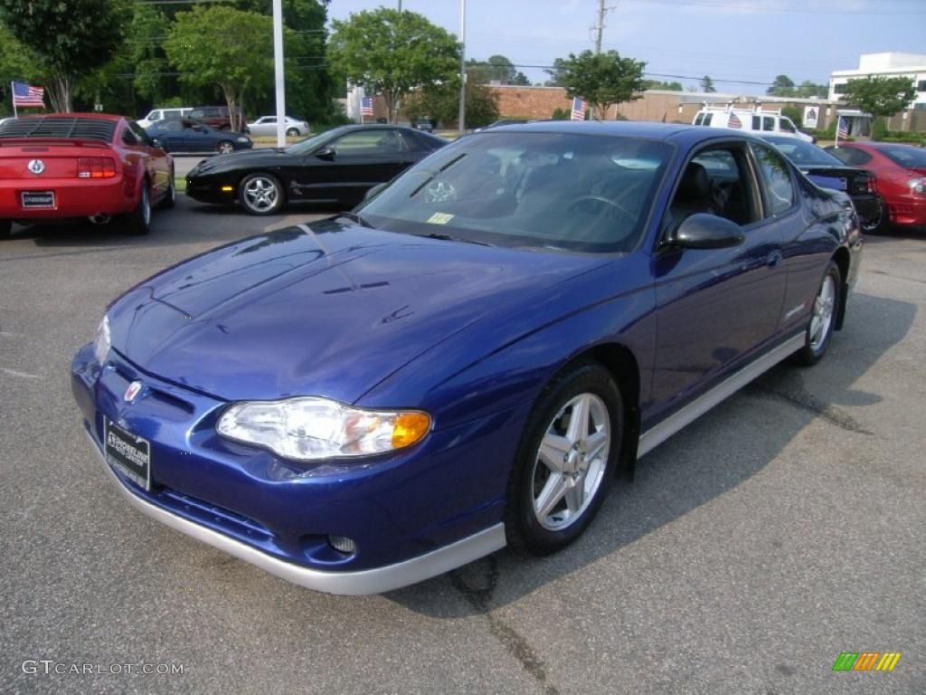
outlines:
[[[123, 400], [131, 381], [144, 388]], [[150, 491], [112, 469], [132, 506], [187, 535], [307, 588], [388, 591], [442, 574], [505, 545], [507, 465], [517, 437], [502, 413], [433, 432], [402, 455], [296, 467], [215, 435], [224, 401], [84, 347], [71, 366], [84, 428], [102, 453], [108, 418], [151, 442]], [[350, 537], [338, 553], [330, 535]]]

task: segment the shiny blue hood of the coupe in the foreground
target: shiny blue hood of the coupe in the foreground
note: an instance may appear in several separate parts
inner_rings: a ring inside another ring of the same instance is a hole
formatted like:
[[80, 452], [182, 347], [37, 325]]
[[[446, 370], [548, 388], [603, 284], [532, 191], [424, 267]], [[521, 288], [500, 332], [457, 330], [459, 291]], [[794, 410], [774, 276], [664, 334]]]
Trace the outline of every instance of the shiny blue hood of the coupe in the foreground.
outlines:
[[322, 221], [185, 261], [108, 316], [113, 347], [175, 384], [350, 403], [473, 322], [606, 262]]

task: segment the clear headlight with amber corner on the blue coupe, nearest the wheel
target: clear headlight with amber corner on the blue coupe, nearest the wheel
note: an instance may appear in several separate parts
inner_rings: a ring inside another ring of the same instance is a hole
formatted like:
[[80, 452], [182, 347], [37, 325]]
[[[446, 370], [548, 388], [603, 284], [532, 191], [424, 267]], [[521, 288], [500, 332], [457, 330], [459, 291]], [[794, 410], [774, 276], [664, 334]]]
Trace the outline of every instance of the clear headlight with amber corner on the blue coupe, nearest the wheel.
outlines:
[[421, 411], [363, 411], [328, 398], [247, 401], [225, 411], [219, 435], [270, 449], [287, 459], [317, 461], [404, 449], [431, 430]]

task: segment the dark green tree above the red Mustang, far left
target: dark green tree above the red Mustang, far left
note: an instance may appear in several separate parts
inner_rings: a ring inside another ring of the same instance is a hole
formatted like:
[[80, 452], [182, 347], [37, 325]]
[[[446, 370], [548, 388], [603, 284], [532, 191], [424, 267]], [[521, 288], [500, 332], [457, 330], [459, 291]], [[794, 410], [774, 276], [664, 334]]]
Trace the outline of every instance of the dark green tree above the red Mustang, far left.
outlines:
[[0, 0], [0, 21], [28, 46], [45, 73], [58, 111], [73, 110], [75, 83], [119, 50], [125, 0]]

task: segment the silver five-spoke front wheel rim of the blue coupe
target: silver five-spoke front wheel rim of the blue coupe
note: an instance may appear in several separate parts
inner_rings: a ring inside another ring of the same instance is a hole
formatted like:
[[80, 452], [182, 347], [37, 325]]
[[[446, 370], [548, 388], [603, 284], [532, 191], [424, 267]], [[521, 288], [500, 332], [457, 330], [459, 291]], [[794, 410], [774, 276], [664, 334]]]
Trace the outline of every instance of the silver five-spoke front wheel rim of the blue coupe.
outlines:
[[541, 526], [560, 531], [582, 517], [604, 479], [610, 446], [601, 398], [582, 393], [557, 412], [533, 463], [533, 513]]

